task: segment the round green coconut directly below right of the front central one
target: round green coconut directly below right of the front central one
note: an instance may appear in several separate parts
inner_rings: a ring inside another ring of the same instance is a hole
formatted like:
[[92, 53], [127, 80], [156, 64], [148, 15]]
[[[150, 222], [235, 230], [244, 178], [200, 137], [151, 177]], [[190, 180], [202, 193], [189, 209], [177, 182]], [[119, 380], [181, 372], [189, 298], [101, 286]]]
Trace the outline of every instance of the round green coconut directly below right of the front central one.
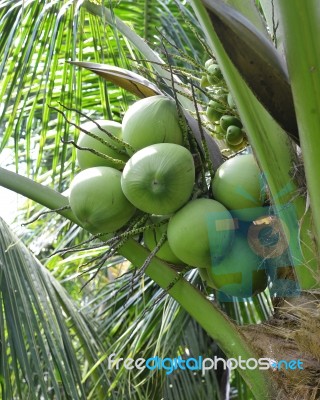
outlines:
[[200, 198], [171, 217], [167, 234], [178, 258], [188, 265], [208, 268], [221, 260], [232, 245], [234, 222], [222, 204]]

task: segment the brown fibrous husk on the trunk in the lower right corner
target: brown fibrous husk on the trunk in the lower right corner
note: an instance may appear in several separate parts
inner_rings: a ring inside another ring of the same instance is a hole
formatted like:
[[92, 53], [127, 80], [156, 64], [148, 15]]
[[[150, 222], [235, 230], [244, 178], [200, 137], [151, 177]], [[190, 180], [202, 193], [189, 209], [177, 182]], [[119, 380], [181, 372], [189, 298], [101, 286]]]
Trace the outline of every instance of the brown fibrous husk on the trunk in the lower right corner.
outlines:
[[303, 370], [273, 370], [272, 400], [320, 399], [320, 291], [284, 299], [272, 319], [240, 329], [259, 357], [303, 362]]

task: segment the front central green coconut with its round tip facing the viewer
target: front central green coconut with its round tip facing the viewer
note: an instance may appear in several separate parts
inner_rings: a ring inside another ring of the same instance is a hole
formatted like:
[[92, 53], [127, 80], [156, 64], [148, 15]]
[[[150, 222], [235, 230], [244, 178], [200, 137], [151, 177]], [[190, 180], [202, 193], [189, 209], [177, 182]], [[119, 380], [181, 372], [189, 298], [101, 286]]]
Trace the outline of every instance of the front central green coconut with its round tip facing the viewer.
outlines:
[[122, 190], [140, 210], [167, 215], [190, 198], [195, 181], [192, 154], [173, 143], [158, 143], [135, 153], [127, 162]]

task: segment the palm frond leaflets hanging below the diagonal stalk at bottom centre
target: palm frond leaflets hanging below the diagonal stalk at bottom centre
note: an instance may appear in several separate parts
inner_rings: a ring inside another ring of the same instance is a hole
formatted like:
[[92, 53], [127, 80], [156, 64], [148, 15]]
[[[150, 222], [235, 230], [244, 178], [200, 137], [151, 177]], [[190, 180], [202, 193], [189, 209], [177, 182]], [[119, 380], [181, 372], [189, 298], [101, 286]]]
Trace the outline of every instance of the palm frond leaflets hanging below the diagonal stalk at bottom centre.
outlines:
[[[196, 283], [196, 271], [191, 271], [189, 279]], [[172, 298], [149, 278], [135, 279], [130, 271], [103, 285], [83, 311], [96, 320], [101, 339], [109, 343], [108, 353], [102, 359], [112, 353], [117, 358], [146, 360], [155, 356], [165, 359], [203, 354], [213, 358], [217, 354], [215, 343]], [[220, 399], [219, 380], [214, 370], [206, 377], [201, 376], [201, 371], [196, 374], [194, 371], [175, 371], [168, 375], [164, 369], [137, 372], [123, 366], [112, 372], [115, 374], [109, 395], [125, 398], [130, 389], [126, 382], [130, 382], [137, 390], [130, 394], [134, 399], [140, 399], [141, 393], [143, 399], [192, 400], [197, 393], [201, 395], [197, 397], [199, 399], [208, 396]], [[223, 382], [221, 386], [225, 384]]]

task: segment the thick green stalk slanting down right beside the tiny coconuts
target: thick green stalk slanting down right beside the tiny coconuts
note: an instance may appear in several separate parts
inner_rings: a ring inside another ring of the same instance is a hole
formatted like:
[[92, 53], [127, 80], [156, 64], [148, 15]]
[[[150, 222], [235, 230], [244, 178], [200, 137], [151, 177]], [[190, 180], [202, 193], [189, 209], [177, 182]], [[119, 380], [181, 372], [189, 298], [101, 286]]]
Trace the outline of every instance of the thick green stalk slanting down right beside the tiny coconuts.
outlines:
[[[310, 234], [310, 224], [302, 224], [304, 220], [310, 222], [310, 215], [306, 213], [306, 197], [301, 194], [301, 187], [293, 176], [293, 171], [299, 164], [295, 148], [287, 133], [257, 100], [231, 62], [203, 3], [214, 6], [213, 3], [207, 1], [190, 0], [190, 4], [205, 32], [207, 43], [215, 54], [228, 88], [233, 95], [249, 143], [267, 180], [273, 205], [284, 226], [299, 285], [301, 289], [317, 287], [319, 285], [317, 279], [318, 263], [315, 257], [316, 249], [313, 235], [312, 232]], [[247, 27], [243, 29], [247, 37], [248, 30], [252, 29], [253, 32], [256, 32], [250, 26], [248, 29]], [[238, 35], [240, 35], [239, 32]], [[260, 54], [263, 54], [263, 41], [261, 43], [259, 37], [255, 40], [254, 37], [251, 38], [250, 36], [249, 40], [253, 43], [253, 47], [260, 48]], [[252, 42], [252, 40], [255, 41]], [[242, 52], [245, 53], [245, 50], [243, 49]], [[266, 63], [266, 74], [268, 68], [270, 68], [270, 65]], [[269, 83], [272, 84], [272, 82]], [[288, 209], [290, 209], [290, 212], [288, 212]], [[301, 247], [298, 240], [299, 234], [303, 237]]]

